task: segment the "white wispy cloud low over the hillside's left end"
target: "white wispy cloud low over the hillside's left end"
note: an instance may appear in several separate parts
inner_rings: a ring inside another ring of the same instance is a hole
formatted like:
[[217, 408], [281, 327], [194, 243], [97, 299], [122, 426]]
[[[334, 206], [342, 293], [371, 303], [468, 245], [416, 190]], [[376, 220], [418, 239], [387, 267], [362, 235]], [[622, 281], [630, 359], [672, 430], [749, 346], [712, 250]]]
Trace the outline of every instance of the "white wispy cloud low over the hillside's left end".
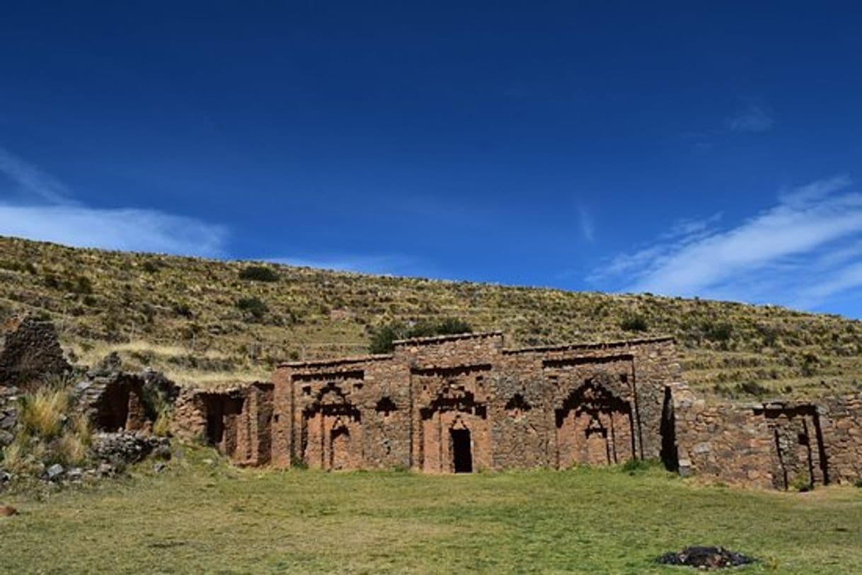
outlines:
[[153, 209], [78, 203], [66, 185], [0, 147], [0, 234], [78, 247], [217, 257], [228, 230]]

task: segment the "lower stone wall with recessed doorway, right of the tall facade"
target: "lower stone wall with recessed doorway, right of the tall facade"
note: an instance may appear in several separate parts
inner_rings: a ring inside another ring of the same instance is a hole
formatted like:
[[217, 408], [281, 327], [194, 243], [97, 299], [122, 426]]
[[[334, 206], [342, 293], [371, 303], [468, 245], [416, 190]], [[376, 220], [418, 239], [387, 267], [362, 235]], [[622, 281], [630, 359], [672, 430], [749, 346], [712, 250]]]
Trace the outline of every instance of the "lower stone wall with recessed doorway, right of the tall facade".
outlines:
[[862, 478], [862, 397], [707, 403], [672, 390], [680, 472], [782, 490]]

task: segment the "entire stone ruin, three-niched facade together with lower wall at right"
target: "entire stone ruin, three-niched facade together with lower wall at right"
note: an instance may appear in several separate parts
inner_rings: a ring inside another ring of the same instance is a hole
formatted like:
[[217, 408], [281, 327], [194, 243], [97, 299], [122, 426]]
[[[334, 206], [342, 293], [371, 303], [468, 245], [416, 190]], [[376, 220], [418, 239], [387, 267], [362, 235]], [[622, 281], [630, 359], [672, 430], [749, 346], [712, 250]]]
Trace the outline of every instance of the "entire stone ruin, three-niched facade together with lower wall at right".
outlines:
[[660, 459], [682, 475], [797, 489], [862, 478], [862, 395], [707, 403], [670, 337], [509, 349], [499, 332], [278, 366], [184, 390], [176, 433], [235, 463], [428, 473]]

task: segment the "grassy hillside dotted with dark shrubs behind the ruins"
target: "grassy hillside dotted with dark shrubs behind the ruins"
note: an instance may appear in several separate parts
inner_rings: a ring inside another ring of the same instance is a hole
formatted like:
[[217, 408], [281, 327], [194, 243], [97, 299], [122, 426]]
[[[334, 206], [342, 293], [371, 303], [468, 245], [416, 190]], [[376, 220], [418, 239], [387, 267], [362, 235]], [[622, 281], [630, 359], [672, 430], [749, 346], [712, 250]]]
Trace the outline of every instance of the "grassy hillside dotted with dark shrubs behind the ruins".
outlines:
[[84, 363], [117, 349], [130, 367], [197, 384], [265, 378], [280, 359], [362, 353], [386, 322], [456, 317], [503, 330], [512, 346], [671, 334], [690, 384], [721, 397], [862, 389], [862, 322], [840, 316], [249, 266], [0, 238], [0, 313], [50, 316]]

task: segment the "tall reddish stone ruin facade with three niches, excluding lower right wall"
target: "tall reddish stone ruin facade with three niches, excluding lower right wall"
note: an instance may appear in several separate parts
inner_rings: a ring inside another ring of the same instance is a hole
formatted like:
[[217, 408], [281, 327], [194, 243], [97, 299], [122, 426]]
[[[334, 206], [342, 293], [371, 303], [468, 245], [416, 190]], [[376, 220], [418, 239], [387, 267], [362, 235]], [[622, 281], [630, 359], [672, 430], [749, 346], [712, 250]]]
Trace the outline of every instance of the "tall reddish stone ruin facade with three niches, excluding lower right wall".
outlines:
[[507, 349], [503, 334], [279, 366], [272, 384], [190, 391], [178, 418], [247, 465], [473, 472], [657, 458], [670, 338]]

